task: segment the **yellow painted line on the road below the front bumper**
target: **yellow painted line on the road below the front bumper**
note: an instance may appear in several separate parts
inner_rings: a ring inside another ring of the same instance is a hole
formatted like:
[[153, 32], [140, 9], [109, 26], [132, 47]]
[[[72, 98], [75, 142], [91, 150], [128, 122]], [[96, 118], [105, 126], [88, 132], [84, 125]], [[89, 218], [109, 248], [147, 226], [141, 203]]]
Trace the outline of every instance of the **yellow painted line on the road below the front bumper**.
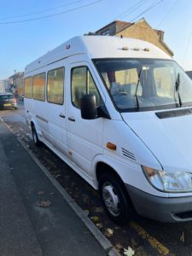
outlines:
[[149, 244], [154, 247], [160, 254], [162, 255], [169, 255], [170, 251], [164, 245], [157, 241], [153, 236], [150, 236], [146, 230], [144, 230], [140, 225], [135, 222], [131, 222], [130, 226], [133, 230], [137, 231], [139, 236], [142, 236], [144, 240], [147, 240]]

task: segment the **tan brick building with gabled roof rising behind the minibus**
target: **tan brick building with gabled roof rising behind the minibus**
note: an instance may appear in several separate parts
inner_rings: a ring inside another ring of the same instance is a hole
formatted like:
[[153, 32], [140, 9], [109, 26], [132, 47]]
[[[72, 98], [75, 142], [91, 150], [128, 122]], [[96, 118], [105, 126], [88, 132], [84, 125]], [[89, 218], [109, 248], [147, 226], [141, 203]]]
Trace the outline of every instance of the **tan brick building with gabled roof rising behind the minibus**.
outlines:
[[173, 56], [172, 49], [170, 49], [164, 42], [164, 32], [152, 28], [145, 19], [138, 20], [134, 23], [115, 20], [107, 26], [103, 26], [101, 29], [97, 30], [96, 34], [142, 39], [156, 45], [164, 50], [166, 54]]

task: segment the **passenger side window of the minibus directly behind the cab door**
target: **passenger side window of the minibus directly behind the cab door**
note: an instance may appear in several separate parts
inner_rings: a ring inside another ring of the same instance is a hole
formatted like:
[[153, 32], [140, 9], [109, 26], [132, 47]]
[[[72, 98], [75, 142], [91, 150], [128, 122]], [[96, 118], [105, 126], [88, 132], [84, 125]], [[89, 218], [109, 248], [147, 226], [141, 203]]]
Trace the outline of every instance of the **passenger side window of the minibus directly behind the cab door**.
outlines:
[[64, 67], [48, 72], [47, 101], [62, 105], [64, 102]]

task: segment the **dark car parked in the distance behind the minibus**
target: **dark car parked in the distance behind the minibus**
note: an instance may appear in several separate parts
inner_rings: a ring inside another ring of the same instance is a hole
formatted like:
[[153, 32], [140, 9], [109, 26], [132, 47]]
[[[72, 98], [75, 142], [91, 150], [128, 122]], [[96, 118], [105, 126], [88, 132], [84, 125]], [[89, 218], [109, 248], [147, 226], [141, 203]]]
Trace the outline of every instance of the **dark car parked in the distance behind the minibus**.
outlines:
[[15, 96], [12, 93], [0, 93], [0, 109], [7, 108], [18, 108]]

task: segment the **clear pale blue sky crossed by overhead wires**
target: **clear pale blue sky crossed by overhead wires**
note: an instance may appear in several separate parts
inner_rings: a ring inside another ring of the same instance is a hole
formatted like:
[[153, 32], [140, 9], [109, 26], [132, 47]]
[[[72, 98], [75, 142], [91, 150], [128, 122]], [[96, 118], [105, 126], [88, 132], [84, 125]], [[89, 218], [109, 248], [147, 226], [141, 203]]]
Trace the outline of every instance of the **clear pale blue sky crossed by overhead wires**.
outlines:
[[74, 36], [143, 17], [165, 32], [179, 65], [192, 70], [191, 0], [0, 0], [0, 7], [0, 80]]

